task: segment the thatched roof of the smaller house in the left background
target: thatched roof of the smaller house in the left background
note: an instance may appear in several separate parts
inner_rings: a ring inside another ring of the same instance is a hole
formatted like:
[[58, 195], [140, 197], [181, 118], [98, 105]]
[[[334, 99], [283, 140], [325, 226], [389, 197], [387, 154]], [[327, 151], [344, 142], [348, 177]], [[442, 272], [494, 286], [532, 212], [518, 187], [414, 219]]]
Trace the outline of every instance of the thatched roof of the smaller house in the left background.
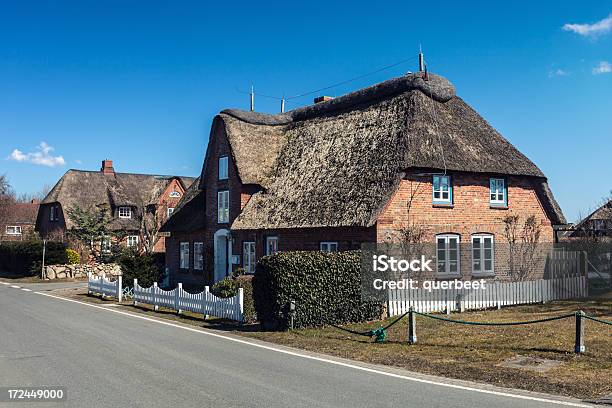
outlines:
[[[150, 174], [113, 173], [100, 171], [68, 170], [47, 194], [41, 204], [60, 203], [64, 211], [71, 207], [92, 210], [97, 205], [108, 204], [110, 208], [119, 206], [147, 206], [157, 204], [168, 183], [178, 179], [185, 189], [189, 188], [193, 177], [158, 176]], [[66, 216], [66, 228], [74, 225]], [[135, 218], [111, 221], [113, 229], [139, 229]]]

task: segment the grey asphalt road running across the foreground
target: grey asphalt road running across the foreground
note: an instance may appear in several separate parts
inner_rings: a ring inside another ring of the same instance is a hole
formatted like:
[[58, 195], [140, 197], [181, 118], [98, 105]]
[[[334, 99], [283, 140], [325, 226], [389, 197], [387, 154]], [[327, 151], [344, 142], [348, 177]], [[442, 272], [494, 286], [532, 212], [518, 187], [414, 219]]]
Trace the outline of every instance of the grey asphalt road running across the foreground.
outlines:
[[291, 354], [286, 348], [279, 351], [261, 342], [254, 346], [249, 340], [233, 337], [235, 341], [123, 313], [0, 284], [0, 387], [63, 386], [67, 390], [63, 403], [0, 402], [0, 406], [531, 408], [581, 404], [541, 401], [554, 397], [320, 355]]

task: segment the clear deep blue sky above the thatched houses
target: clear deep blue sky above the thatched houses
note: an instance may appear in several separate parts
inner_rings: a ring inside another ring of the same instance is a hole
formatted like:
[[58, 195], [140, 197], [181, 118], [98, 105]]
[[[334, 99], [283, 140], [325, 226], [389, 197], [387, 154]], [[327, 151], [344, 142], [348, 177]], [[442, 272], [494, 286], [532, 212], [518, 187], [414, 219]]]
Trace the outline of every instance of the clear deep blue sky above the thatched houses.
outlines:
[[296, 95], [422, 44], [430, 70], [540, 166], [573, 221], [612, 189], [611, 15], [603, 1], [3, 2], [0, 174], [18, 193], [105, 158], [116, 171], [197, 175], [214, 115], [248, 109], [237, 89]]

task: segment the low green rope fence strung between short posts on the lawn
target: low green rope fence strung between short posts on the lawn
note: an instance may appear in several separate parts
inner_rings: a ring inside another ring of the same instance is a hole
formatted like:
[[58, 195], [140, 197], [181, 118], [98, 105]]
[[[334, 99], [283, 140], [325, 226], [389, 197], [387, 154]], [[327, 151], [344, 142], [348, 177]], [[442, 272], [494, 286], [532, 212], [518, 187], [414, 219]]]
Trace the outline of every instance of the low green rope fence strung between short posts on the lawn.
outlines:
[[403, 319], [406, 315], [408, 316], [408, 343], [409, 344], [416, 344], [417, 342], [416, 316], [423, 316], [425, 318], [429, 318], [433, 320], [440, 320], [446, 323], [472, 325], [472, 326], [520, 326], [520, 325], [546, 323], [546, 322], [552, 322], [554, 320], [574, 318], [575, 319], [575, 329], [576, 329], [576, 336], [575, 336], [575, 341], [574, 341], [574, 352], [575, 353], [584, 353], [586, 351], [586, 347], [584, 345], [583, 319], [591, 320], [591, 321], [601, 323], [601, 324], [612, 325], [611, 321], [598, 319], [594, 316], [589, 316], [586, 313], [584, 313], [582, 310], [578, 310], [574, 313], [567, 313], [561, 316], [553, 316], [553, 317], [547, 317], [544, 319], [536, 319], [536, 320], [526, 320], [526, 321], [521, 321], [521, 322], [470, 322], [466, 320], [449, 319], [446, 317], [436, 316], [436, 315], [432, 315], [428, 313], [421, 313], [421, 312], [417, 312], [413, 310], [412, 308], [410, 308], [408, 312], [399, 316], [397, 319], [389, 323], [387, 326], [384, 326], [384, 327], [381, 326], [373, 330], [359, 332], [355, 330], [345, 329], [344, 327], [336, 326], [333, 324], [331, 326], [335, 327], [336, 329], [345, 331], [347, 333], [355, 334], [358, 336], [374, 337], [374, 342], [384, 343], [387, 340], [387, 330], [391, 326], [399, 322], [401, 319]]

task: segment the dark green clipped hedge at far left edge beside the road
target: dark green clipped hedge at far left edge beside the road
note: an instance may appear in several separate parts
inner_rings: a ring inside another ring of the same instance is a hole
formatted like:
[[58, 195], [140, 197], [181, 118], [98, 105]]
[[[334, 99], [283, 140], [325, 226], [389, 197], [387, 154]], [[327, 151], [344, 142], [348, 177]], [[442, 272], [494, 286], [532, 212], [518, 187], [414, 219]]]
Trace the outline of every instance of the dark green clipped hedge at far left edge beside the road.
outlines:
[[[43, 242], [20, 241], [0, 243], [0, 270], [21, 276], [40, 275], [42, 266]], [[45, 264], [68, 263], [66, 244], [47, 242]]]

